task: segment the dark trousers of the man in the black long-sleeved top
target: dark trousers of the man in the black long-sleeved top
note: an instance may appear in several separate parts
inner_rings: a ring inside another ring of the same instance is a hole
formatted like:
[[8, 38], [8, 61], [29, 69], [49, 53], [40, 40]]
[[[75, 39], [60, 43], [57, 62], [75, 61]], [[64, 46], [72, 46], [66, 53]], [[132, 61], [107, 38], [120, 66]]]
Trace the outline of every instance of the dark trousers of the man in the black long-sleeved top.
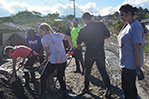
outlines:
[[93, 66], [93, 63], [96, 62], [97, 68], [102, 76], [103, 82], [105, 83], [105, 86], [109, 89], [111, 88], [110, 79], [106, 71], [105, 67], [105, 58], [92, 58], [86, 56], [85, 58], [85, 89], [89, 88], [89, 76], [91, 73], [91, 69]]

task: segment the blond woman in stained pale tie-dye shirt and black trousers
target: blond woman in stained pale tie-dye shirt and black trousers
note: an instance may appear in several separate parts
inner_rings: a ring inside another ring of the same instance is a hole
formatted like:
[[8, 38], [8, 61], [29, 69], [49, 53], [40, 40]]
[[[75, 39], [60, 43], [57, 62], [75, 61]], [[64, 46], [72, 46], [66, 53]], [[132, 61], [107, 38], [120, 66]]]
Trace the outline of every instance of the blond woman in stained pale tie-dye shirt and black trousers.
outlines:
[[[71, 37], [62, 33], [55, 33], [52, 27], [47, 23], [40, 24], [38, 30], [39, 34], [42, 36], [41, 41], [48, 61], [48, 64], [46, 65], [45, 70], [40, 77], [40, 96], [42, 99], [46, 99], [46, 80], [55, 70], [57, 70], [57, 79], [60, 83], [61, 90], [66, 92], [64, 75], [67, 64], [67, 57], [63, 45], [63, 40], [68, 41], [70, 48], [73, 48], [73, 44]], [[50, 58], [48, 59], [48, 57]]]

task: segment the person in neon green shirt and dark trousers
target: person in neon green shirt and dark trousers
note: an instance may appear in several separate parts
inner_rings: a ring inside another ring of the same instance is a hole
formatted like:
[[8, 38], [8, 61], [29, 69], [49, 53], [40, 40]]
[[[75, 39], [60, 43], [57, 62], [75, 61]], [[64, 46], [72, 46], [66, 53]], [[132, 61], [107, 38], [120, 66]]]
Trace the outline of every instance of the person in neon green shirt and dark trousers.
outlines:
[[75, 58], [76, 71], [74, 73], [81, 73], [80, 63], [82, 65], [82, 74], [84, 74], [84, 61], [82, 56], [82, 47], [77, 48], [77, 37], [81, 27], [78, 25], [78, 19], [73, 19], [73, 29], [71, 30], [71, 38], [74, 47], [73, 57]]

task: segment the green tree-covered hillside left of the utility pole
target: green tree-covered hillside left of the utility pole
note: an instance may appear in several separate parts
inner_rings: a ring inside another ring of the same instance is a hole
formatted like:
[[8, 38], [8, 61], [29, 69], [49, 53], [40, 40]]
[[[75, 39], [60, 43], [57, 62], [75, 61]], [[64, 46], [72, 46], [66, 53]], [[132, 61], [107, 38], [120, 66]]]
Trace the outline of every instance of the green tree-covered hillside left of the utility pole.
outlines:
[[[0, 23], [13, 22], [22, 25], [38, 26], [39, 23], [46, 22], [52, 27], [60, 28], [61, 32], [65, 32], [73, 18], [73, 15], [68, 15], [62, 19], [59, 17], [59, 13], [49, 13], [46, 16], [42, 16], [41, 13], [36, 11], [21, 11], [15, 15], [0, 18]], [[63, 21], [55, 21], [55, 19], [62, 19]]]

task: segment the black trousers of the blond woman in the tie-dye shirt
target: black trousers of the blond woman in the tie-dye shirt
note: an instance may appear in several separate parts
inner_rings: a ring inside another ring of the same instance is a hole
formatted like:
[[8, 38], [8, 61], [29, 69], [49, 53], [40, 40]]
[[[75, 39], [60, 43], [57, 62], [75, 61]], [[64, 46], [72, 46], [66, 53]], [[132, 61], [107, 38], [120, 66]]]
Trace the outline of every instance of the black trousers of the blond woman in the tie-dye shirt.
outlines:
[[65, 83], [65, 69], [66, 69], [66, 62], [61, 64], [51, 64], [50, 62], [46, 66], [43, 74], [40, 77], [41, 80], [41, 94], [45, 93], [46, 91], [46, 80], [47, 78], [57, 69], [57, 79], [60, 83], [61, 89], [66, 90], [66, 83]]

